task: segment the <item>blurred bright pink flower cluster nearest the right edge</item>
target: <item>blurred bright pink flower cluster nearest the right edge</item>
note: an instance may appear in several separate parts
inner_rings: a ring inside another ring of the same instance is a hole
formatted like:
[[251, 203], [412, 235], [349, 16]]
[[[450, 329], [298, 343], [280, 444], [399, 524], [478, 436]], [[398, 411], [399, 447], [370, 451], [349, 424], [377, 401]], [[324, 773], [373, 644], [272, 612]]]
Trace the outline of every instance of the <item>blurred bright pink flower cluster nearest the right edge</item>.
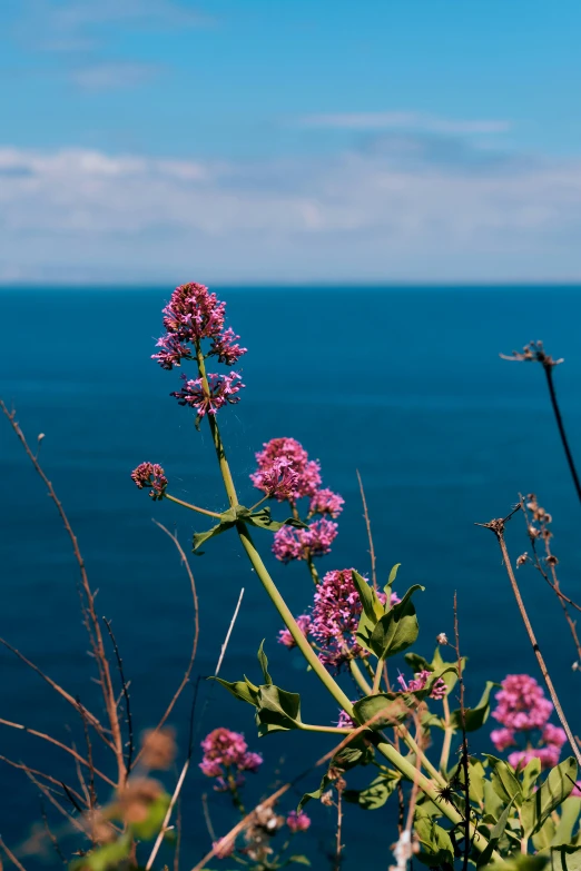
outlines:
[[[560, 726], [549, 723], [553, 705], [545, 699], [542, 686], [534, 677], [529, 674], [508, 674], [495, 699], [498, 705], [492, 716], [503, 726], [491, 732], [496, 750], [518, 748], [518, 738], [521, 738], [525, 746], [509, 755], [509, 762], [515, 770], [524, 768], [535, 758], [541, 760], [543, 769], [557, 765], [567, 735]], [[533, 743], [534, 736], [536, 743]]]

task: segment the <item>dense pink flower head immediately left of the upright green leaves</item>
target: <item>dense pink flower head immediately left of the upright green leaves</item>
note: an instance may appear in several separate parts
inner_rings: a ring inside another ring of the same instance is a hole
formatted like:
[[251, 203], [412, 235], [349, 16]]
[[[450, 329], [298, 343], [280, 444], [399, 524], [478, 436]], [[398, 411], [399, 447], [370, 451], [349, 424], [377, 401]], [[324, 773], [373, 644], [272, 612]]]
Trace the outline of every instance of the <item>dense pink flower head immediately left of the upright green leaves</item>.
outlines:
[[315, 590], [311, 615], [311, 635], [321, 647], [318, 659], [325, 665], [339, 669], [348, 660], [367, 655], [355, 641], [361, 612], [353, 568], [327, 572]]

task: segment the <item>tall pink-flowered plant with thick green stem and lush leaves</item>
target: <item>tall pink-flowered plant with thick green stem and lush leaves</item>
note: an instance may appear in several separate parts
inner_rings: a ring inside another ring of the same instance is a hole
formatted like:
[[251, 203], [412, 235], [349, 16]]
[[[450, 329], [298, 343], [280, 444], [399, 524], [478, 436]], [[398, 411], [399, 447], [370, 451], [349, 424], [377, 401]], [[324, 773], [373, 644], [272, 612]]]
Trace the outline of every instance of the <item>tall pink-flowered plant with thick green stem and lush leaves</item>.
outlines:
[[[228, 402], [239, 399], [239, 377], [235, 383], [227, 380], [234, 375], [210, 375], [206, 360], [215, 356], [230, 365], [237, 363], [245, 349], [233, 344], [238, 340], [235, 334], [228, 333], [226, 337], [224, 333], [225, 305], [200, 285], [177, 288], [164, 315], [167, 334], [159, 342], [161, 350], [155, 355], [156, 359], [167, 369], [183, 360], [196, 362], [196, 377], [185, 379], [181, 392], [173, 395], [183, 405], [195, 408], [197, 426], [207, 417], [228, 501], [228, 507], [215, 515], [218, 523], [194, 534], [194, 550], [230, 529], [238, 535], [256, 577], [283, 621], [278, 641], [301, 651], [312, 677], [321, 681], [338, 706], [337, 724], [313, 723], [302, 709], [299, 694], [282, 689], [272, 677], [265, 642], [258, 650], [256, 675], [234, 681], [218, 679], [233, 696], [254, 710], [258, 735], [302, 730], [328, 733], [335, 742], [338, 740], [319, 786], [305, 793], [290, 828], [306, 825], [299, 821], [304, 820], [303, 809], [311, 800], [334, 804], [341, 816], [343, 798], [362, 809], [377, 810], [391, 795], [396, 792], [401, 795], [403, 785], [408, 783], [413, 784], [414, 834], [412, 839], [410, 829], [407, 835], [401, 833], [403, 840], [396, 855], [407, 855], [413, 847], [412, 852], [429, 865], [450, 867], [462, 859], [466, 868], [469, 861], [482, 865], [513, 854], [522, 855], [528, 852], [531, 838], [536, 847], [546, 827], [557, 824], [555, 811], [573, 790], [575, 760], [569, 758], [553, 765], [554, 754], [540, 758], [539, 753], [531, 754], [529, 746], [518, 751], [519, 758], [510, 758], [509, 762], [492, 755], [483, 759], [469, 755], [466, 734], [486, 721], [493, 684], [486, 684], [474, 707], [466, 707], [463, 703], [465, 660], [457, 637], [452, 660], [444, 660], [441, 653], [452, 646], [445, 633], [439, 635], [439, 646], [431, 660], [410, 650], [418, 636], [415, 597], [424, 587], [413, 584], [402, 595], [396, 594], [393, 585], [397, 565], [383, 588], [378, 588], [375, 577], [370, 583], [353, 567], [333, 568], [319, 576], [314, 561], [329, 554], [344, 503], [338, 494], [323, 486], [321, 464], [309, 458], [296, 439], [275, 437], [263, 445], [250, 476], [263, 496], [250, 508], [240, 504], [217, 419]], [[207, 350], [203, 348], [204, 340], [210, 342]], [[230, 355], [220, 352], [227, 345], [236, 348]], [[173, 498], [168, 488], [163, 496]], [[269, 507], [264, 506], [267, 501], [287, 506], [288, 517], [273, 519]], [[186, 507], [213, 514], [194, 505], [186, 504]], [[313, 601], [296, 618], [260, 557], [253, 538], [255, 528], [274, 533], [270, 548], [278, 561], [304, 562], [314, 582]], [[400, 671], [393, 682], [387, 663], [400, 654], [405, 654], [405, 673]], [[347, 695], [343, 687], [344, 673], [357, 687], [355, 700], [351, 697], [353, 689]], [[504, 733], [493, 733], [496, 746], [506, 749], [524, 731], [522, 717], [511, 719], [509, 709], [516, 697], [514, 692], [516, 695], [532, 692], [534, 696], [533, 684], [534, 681], [528, 684], [521, 680], [516, 691], [510, 679], [506, 680], [495, 711], [504, 725]], [[461, 687], [462, 702], [459, 709], [452, 710], [451, 694], [456, 685]], [[550, 710], [538, 692], [534, 699], [529, 716], [534, 707], [534, 725], [541, 730], [541, 741], [554, 750], [562, 743], [562, 735], [558, 728], [548, 724]], [[392, 732], [392, 739], [386, 730]], [[434, 764], [426, 750], [431, 734], [437, 730], [442, 732], [442, 748], [440, 761]], [[454, 762], [452, 748], [460, 738], [460, 760]], [[218, 775], [219, 766], [213, 766], [211, 760], [204, 764], [230, 791], [237, 789], [239, 772], [235, 774], [228, 769], [225, 778], [224, 772]], [[551, 770], [546, 780], [540, 782], [543, 764]], [[368, 786], [347, 789], [348, 772], [360, 765], [373, 768]], [[228, 786], [229, 778], [234, 781]], [[573, 838], [572, 830], [568, 838]], [[577, 843], [574, 839], [573, 842]], [[214, 854], [218, 853], [216, 849]]]

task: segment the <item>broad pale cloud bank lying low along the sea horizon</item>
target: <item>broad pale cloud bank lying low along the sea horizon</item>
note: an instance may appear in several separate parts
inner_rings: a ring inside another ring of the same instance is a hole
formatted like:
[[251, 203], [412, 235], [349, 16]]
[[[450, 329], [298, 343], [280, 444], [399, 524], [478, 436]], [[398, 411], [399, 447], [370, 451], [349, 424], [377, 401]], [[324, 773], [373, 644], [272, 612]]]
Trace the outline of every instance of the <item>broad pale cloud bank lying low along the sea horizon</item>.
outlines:
[[456, 146], [260, 164], [3, 148], [0, 279], [581, 278], [581, 158]]

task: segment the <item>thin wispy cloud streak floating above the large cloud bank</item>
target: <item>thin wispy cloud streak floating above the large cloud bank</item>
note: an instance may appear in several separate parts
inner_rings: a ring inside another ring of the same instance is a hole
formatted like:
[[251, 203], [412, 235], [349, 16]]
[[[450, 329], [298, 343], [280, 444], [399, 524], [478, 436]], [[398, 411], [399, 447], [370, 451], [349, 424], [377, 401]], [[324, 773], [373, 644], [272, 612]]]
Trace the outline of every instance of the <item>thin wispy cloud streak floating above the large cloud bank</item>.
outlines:
[[461, 120], [422, 112], [339, 112], [305, 115], [302, 127], [336, 130], [415, 130], [433, 133], [500, 133], [509, 130], [508, 121]]

